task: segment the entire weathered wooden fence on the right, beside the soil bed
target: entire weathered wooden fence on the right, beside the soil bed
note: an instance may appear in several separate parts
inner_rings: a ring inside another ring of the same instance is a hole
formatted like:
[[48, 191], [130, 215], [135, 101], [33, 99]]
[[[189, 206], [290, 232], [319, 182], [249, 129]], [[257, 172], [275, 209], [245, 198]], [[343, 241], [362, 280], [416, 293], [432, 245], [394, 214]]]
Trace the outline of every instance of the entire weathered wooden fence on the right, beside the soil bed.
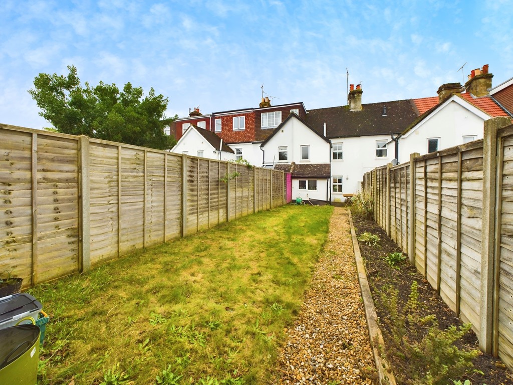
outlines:
[[374, 219], [409, 256], [480, 347], [513, 369], [513, 125], [484, 139], [364, 176]]

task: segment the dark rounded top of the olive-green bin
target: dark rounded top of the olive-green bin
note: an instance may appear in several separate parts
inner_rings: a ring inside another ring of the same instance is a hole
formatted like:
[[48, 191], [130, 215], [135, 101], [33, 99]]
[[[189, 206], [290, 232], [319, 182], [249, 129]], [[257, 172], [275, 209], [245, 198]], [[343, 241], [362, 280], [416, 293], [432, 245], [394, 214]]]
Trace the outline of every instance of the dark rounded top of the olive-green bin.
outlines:
[[0, 330], [0, 369], [25, 354], [39, 341], [36, 325], [18, 325]]

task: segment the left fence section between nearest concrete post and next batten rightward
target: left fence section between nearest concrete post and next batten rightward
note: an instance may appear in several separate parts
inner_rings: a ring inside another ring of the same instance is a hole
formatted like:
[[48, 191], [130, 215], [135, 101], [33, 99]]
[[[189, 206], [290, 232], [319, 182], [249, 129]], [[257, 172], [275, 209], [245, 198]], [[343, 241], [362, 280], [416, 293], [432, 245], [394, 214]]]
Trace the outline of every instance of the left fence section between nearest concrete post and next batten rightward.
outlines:
[[89, 144], [91, 264], [119, 256], [118, 147]]

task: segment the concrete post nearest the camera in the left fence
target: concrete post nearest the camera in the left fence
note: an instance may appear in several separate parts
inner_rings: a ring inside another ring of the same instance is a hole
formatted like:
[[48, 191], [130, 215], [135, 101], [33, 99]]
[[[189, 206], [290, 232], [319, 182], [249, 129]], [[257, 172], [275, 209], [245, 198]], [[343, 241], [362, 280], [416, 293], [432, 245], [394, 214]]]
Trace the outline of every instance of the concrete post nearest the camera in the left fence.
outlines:
[[89, 138], [80, 136], [80, 271], [91, 269], [90, 188], [89, 188]]

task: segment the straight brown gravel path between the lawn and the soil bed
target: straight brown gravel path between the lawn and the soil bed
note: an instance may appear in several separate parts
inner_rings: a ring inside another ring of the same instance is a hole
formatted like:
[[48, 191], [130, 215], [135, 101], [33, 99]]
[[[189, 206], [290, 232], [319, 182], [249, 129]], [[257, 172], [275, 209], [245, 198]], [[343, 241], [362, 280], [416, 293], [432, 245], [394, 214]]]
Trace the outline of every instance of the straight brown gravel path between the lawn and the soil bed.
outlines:
[[[277, 384], [377, 384], [346, 208], [334, 207], [324, 252], [278, 358]], [[338, 382], [337, 382], [338, 381]]]

